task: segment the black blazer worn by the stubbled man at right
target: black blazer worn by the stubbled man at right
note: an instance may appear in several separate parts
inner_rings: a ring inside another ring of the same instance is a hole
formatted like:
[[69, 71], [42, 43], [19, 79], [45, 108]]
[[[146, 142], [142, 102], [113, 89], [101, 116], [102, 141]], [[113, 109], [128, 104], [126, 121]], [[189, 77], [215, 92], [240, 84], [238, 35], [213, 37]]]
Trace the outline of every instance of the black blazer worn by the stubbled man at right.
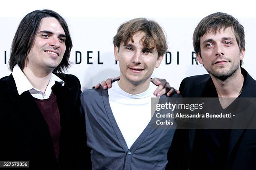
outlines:
[[[241, 71], [244, 76], [244, 83], [239, 97], [256, 97], [256, 80], [243, 68], [241, 68]], [[215, 89], [215, 86], [210, 75], [206, 74], [186, 77], [182, 80], [179, 90], [183, 97], [216, 97], [216, 89], [214, 92], [208, 91], [212, 88]], [[174, 162], [175, 168], [187, 170], [187, 167], [189, 167], [195, 131], [176, 131], [173, 138], [174, 145], [171, 146], [176, 149], [176, 152], [174, 152], [174, 155], [169, 154], [169, 160]], [[223, 169], [256, 170], [256, 130], [231, 130], [228, 143], [228, 160]]]

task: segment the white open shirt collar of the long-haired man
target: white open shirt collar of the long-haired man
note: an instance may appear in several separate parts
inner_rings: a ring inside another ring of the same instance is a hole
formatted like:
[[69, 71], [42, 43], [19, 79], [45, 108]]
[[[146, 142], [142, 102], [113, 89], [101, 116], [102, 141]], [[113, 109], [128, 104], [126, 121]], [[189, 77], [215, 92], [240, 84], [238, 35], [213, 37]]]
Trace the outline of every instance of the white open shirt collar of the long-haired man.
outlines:
[[36, 97], [38, 99], [47, 99], [51, 95], [51, 87], [55, 84], [55, 82], [59, 82], [62, 86], [64, 86], [64, 81], [61, 80], [58, 76], [51, 73], [49, 84], [47, 85], [45, 92], [42, 92], [31, 85], [26, 75], [22, 72], [18, 65], [15, 65], [12, 74], [19, 95], [21, 95], [25, 91], [29, 91], [33, 97]]

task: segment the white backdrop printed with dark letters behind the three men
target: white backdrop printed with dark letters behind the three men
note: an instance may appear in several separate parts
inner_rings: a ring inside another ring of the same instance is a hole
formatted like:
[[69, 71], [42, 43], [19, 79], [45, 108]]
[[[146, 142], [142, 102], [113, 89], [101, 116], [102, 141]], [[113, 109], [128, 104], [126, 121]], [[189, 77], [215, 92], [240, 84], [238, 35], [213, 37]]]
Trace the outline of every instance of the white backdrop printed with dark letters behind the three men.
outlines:
[[[119, 75], [119, 67], [113, 55], [113, 36], [118, 26], [130, 19], [145, 17], [154, 19], [165, 30], [168, 40], [167, 60], [164, 57], [152, 77], [164, 77], [170, 84], [179, 88], [184, 77], [207, 73], [199, 64], [192, 65], [192, 34], [199, 21], [214, 12], [225, 12], [238, 18], [246, 32], [246, 55], [243, 67], [256, 79], [256, 12], [253, 5], [243, 1], [8, 1], [0, 10], [0, 77], [9, 75], [7, 63], [10, 45], [20, 20], [29, 12], [38, 9], [51, 9], [67, 21], [72, 36], [73, 48], [70, 60], [74, 63], [69, 74], [76, 75], [82, 90], [91, 88], [107, 77]], [[6, 51], [6, 64], [5, 64]], [[80, 53], [81, 60], [80, 60]], [[99, 52], [99, 55], [98, 55]], [[179, 52], [179, 64], [177, 63]], [[77, 62], [76, 64], [76, 53]], [[98, 57], [99, 56], [99, 57]], [[170, 63], [170, 58], [172, 62]], [[89, 60], [87, 62], [87, 60]], [[98, 64], [98, 62], [103, 64]], [[167, 62], [167, 64], [166, 64]], [[92, 64], [90, 64], [92, 63]]]

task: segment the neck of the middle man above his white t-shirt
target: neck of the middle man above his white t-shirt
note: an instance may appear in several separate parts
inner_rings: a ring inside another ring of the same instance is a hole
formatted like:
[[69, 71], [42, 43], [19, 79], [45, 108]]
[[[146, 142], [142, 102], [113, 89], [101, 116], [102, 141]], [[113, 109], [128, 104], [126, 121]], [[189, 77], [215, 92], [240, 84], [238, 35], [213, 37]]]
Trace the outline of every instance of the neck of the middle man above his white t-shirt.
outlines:
[[132, 94], [132, 95], [137, 95], [137, 94], [142, 93], [148, 89], [148, 87], [150, 85], [150, 81], [148, 79], [147, 81], [135, 84], [135, 83], [130, 82], [129, 80], [125, 80], [125, 78], [120, 76], [118, 85], [125, 92]]

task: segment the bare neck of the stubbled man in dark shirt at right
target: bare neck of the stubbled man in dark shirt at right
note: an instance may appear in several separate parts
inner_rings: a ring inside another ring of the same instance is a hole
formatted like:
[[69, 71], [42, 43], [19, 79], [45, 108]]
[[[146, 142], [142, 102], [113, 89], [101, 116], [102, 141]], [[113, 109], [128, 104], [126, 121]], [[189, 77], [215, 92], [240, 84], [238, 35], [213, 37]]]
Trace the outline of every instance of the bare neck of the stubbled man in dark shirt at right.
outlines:
[[234, 72], [233, 75], [226, 80], [220, 80], [216, 77], [212, 77], [212, 81], [218, 93], [218, 97], [238, 97], [242, 92], [243, 87], [243, 75], [241, 68]]

